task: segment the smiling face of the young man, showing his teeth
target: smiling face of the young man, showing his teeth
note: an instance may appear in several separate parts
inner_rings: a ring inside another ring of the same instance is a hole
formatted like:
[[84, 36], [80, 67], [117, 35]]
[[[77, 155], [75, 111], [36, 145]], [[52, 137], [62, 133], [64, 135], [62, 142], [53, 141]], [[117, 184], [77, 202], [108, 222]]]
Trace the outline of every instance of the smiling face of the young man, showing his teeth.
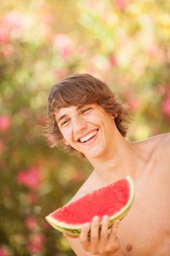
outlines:
[[56, 111], [55, 118], [66, 145], [82, 152], [88, 159], [101, 157], [109, 148], [115, 122], [101, 106], [61, 108]]

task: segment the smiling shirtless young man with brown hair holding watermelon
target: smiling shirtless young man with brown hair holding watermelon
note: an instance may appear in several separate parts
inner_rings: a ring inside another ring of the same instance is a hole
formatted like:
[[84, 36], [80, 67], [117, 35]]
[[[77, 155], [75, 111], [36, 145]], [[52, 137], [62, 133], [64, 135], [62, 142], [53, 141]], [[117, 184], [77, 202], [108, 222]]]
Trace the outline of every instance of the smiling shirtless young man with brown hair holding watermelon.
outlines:
[[111, 230], [105, 216], [98, 235], [94, 217], [80, 238], [66, 236], [76, 255], [169, 256], [170, 134], [126, 140], [127, 109], [104, 82], [87, 74], [71, 75], [53, 86], [48, 114], [52, 146], [79, 151], [94, 167], [72, 200], [128, 175], [136, 189], [127, 216]]

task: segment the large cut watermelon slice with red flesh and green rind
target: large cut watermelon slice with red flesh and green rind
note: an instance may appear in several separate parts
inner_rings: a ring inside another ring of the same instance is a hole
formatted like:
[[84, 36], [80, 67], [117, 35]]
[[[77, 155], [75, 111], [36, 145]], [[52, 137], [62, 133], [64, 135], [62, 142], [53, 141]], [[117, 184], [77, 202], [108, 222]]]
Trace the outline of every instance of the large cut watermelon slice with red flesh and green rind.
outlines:
[[126, 176], [58, 208], [46, 219], [56, 230], [71, 236], [79, 236], [82, 225], [91, 222], [94, 216], [98, 216], [101, 221], [107, 214], [109, 226], [115, 219], [123, 219], [133, 200], [134, 182], [130, 176]]

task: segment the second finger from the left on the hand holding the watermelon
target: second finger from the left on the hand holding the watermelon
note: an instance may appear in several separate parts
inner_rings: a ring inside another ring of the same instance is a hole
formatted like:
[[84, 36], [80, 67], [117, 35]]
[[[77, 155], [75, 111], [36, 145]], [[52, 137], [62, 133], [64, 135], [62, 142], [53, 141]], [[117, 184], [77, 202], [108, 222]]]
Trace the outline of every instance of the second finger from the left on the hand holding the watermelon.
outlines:
[[96, 249], [98, 246], [98, 237], [99, 237], [99, 217], [93, 217], [93, 221], [91, 223], [91, 230], [90, 230], [90, 245], [91, 245], [91, 252], [93, 254], [96, 253]]

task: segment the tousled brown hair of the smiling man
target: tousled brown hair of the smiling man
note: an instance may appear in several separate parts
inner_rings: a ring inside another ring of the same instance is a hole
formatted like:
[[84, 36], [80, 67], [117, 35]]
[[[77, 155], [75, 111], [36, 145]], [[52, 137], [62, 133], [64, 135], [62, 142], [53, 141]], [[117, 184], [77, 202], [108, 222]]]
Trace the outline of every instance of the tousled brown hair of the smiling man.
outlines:
[[[115, 124], [120, 134], [125, 136], [128, 122], [127, 106], [117, 100], [106, 83], [88, 74], [69, 75], [52, 87], [48, 97], [48, 120], [45, 126], [45, 136], [50, 146], [64, 146], [63, 135], [61, 135], [57, 122], [55, 121], [55, 111], [60, 108], [72, 105], [88, 105], [96, 103], [107, 113], [115, 116]], [[74, 148], [65, 146], [66, 151], [73, 152]]]

